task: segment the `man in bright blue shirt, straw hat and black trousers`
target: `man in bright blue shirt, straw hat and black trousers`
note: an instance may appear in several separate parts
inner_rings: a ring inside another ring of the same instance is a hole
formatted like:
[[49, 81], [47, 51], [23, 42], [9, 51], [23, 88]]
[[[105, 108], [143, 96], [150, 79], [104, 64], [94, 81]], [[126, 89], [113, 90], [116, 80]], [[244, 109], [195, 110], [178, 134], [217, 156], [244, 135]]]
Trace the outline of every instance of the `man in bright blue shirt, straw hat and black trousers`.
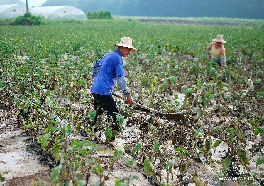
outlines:
[[[94, 97], [94, 109], [97, 110], [97, 116], [103, 113], [101, 109], [98, 109], [101, 107], [108, 112], [109, 116], [113, 117], [114, 123], [116, 123], [116, 114], [114, 112], [119, 113], [119, 110], [112, 97], [116, 82], [126, 95], [128, 103], [134, 104], [134, 99], [127, 86], [122, 56], [126, 57], [130, 52], [138, 52], [138, 50], [132, 46], [130, 37], [122, 37], [118, 44], [112, 46], [117, 47], [117, 50], [106, 53], [92, 66], [91, 76], [94, 78], [94, 82], [91, 92]], [[111, 128], [119, 130], [118, 124], [112, 125]], [[114, 139], [115, 137], [112, 137], [110, 141]]]

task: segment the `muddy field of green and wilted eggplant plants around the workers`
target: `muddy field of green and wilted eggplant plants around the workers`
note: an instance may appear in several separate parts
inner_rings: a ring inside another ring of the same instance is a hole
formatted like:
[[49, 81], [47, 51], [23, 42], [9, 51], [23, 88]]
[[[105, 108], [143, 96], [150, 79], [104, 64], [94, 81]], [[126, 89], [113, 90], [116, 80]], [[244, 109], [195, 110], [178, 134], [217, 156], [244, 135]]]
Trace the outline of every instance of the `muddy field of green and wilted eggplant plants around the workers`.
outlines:
[[[0, 185], [264, 184], [263, 25], [51, 21], [0, 32]], [[207, 57], [217, 34], [224, 70]], [[122, 36], [139, 50], [124, 58], [135, 101], [187, 121], [116, 98], [120, 131], [107, 112], [94, 131], [92, 64]]]

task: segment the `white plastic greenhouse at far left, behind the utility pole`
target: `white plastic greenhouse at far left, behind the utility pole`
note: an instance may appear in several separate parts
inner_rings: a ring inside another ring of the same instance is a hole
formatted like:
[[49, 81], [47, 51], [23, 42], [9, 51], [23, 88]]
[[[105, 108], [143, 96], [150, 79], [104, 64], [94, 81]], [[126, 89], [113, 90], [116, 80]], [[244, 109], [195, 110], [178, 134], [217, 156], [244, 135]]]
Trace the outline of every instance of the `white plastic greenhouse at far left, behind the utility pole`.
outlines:
[[[28, 11], [35, 14], [35, 11], [28, 8]], [[27, 12], [27, 8], [21, 4], [4, 4], [0, 5], [0, 18], [15, 18], [17, 16], [22, 16]]]

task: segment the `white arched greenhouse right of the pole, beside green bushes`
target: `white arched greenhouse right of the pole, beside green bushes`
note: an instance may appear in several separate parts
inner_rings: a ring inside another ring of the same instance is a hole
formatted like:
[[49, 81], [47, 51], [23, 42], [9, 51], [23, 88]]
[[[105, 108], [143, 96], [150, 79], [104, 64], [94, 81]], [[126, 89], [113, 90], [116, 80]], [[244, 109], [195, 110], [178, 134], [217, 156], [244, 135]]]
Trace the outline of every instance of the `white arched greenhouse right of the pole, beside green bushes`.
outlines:
[[48, 19], [87, 19], [86, 14], [74, 6], [42, 6], [32, 9], [36, 15]]

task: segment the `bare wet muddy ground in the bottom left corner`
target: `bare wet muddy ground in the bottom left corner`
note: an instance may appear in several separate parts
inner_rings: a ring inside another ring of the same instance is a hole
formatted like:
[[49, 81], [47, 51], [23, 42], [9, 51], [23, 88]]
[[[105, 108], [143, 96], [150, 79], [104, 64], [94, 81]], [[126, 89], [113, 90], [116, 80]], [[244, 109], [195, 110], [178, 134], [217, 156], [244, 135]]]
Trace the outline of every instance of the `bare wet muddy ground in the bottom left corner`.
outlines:
[[8, 111], [0, 110], [0, 172], [12, 171], [0, 185], [50, 185], [48, 164], [26, 151], [32, 136], [23, 135], [24, 130], [14, 127], [15, 123]]

